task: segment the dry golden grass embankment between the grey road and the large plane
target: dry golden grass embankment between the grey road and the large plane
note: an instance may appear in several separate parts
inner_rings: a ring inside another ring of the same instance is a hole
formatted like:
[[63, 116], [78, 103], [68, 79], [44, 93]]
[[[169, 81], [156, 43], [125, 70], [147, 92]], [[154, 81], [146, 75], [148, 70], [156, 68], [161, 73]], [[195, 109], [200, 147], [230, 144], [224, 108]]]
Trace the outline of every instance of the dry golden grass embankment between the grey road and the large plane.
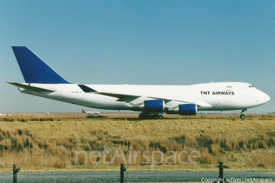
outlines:
[[[272, 116], [261, 119], [167, 119], [167, 120], [74, 120], [56, 116], [10, 116], [13, 120], [0, 119], [0, 171], [9, 171], [16, 163], [25, 171], [28, 168], [28, 125], [31, 123], [32, 171], [118, 171], [121, 157], [113, 164], [104, 164], [103, 156], [92, 158], [100, 163], [85, 164], [84, 154], [75, 164], [75, 151], [109, 151], [106, 161], [111, 161], [117, 147], [127, 151], [126, 126], [128, 124], [130, 151], [198, 151], [199, 164], [155, 165], [153, 170], [217, 171], [218, 126], [220, 126], [221, 161], [230, 171], [274, 170], [275, 120]], [[40, 120], [40, 118], [42, 118]], [[46, 118], [44, 120], [44, 118]], [[84, 117], [85, 118], [85, 117]], [[25, 120], [22, 120], [25, 119]], [[22, 122], [23, 121], [23, 122]], [[149, 159], [151, 156], [148, 155]], [[155, 160], [160, 160], [156, 154]], [[182, 161], [188, 154], [182, 154]], [[151, 163], [138, 154], [136, 162], [131, 157], [129, 171], [152, 170]], [[171, 159], [169, 161], [172, 161]]]

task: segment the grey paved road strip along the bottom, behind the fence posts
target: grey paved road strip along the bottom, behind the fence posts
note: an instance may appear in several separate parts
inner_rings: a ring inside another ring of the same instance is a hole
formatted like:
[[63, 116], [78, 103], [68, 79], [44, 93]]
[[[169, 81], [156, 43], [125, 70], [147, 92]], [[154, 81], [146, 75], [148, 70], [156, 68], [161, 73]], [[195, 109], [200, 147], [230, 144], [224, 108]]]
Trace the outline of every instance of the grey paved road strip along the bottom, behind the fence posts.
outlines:
[[[124, 174], [127, 182], [127, 174]], [[248, 171], [224, 172], [225, 178], [269, 178], [275, 180], [274, 172]], [[188, 172], [188, 171], [137, 171], [128, 173], [129, 182], [202, 182], [202, 178], [218, 178], [218, 172]], [[10, 183], [13, 180], [12, 172], [0, 173], [1, 183]], [[28, 182], [28, 173], [19, 172], [18, 183]], [[50, 182], [120, 182], [119, 172], [42, 172], [30, 173], [31, 183]], [[255, 181], [254, 181], [255, 182]]]

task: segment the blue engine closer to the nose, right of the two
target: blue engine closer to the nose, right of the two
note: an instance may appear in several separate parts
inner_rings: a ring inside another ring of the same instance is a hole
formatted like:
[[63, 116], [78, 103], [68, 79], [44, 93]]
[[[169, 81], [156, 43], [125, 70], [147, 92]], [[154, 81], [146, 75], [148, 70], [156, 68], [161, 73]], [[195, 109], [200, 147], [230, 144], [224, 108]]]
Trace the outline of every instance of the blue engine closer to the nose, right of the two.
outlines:
[[167, 114], [179, 114], [179, 115], [196, 115], [197, 105], [196, 104], [180, 104], [173, 108], [166, 109]]

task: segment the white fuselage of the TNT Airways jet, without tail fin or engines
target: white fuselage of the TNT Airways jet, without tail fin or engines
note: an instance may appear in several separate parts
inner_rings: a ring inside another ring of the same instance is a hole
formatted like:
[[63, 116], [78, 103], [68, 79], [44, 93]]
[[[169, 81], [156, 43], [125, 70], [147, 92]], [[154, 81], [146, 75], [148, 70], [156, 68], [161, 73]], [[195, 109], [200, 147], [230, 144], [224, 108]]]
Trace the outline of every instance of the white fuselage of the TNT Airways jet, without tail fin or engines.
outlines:
[[[28, 85], [28, 83], [23, 83]], [[133, 110], [132, 104], [152, 99], [167, 99], [165, 107], [192, 103], [198, 111], [225, 111], [252, 108], [262, 105], [270, 97], [251, 84], [242, 82], [217, 82], [188, 86], [175, 85], [86, 85], [97, 92], [119, 93], [140, 96], [131, 101], [116, 101], [118, 98], [97, 93], [85, 93], [77, 84], [29, 84], [55, 90], [52, 93], [19, 88], [28, 93], [53, 100], [81, 106], [108, 110]]]

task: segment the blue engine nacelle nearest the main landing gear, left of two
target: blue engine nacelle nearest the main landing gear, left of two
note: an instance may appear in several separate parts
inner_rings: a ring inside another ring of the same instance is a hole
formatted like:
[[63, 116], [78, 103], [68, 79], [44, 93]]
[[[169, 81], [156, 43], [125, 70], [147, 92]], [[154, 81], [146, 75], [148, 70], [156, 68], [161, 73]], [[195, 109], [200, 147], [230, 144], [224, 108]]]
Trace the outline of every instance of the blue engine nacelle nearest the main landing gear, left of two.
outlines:
[[148, 112], [163, 112], [164, 101], [163, 100], [148, 100], [139, 104], [133, 104], [134, 111], [148, 111]]

